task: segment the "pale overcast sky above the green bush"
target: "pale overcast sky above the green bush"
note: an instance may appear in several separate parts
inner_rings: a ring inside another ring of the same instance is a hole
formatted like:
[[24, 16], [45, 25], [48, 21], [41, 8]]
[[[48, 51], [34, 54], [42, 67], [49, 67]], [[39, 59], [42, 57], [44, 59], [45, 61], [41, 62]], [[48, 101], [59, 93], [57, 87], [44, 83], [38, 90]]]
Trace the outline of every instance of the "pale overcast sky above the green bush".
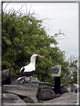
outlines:
[[[21, 8], [21, 6], [23, 7]], [[45, 19], [43, 27], [48, 35], [54, 36], [60, 30], [66, 35], [56, 37], [59, 43], [57, 46], [66, 52], [66, 59], [70, 55], [78, 57], [78, 3], [9, 3], [8, 5], [3, 3], [3, 8], [5, 10], [21, 8], [25, 14], [29, 10], [31, 13], [34, 11], [37, 19]]]

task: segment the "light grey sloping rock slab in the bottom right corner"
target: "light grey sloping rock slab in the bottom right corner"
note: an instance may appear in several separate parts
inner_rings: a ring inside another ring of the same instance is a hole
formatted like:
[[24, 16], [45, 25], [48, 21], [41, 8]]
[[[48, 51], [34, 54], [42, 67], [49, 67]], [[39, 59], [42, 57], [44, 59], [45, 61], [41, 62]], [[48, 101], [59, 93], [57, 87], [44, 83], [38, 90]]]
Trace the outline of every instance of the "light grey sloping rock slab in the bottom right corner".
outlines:
[[43, 101], [43, 103], [56, 103], [56, 104], [63, 104], [63, 103], [77, 103], [77, 94], [67, 92], [62, 94], [58, 98], [54, 98], [52, 100]]

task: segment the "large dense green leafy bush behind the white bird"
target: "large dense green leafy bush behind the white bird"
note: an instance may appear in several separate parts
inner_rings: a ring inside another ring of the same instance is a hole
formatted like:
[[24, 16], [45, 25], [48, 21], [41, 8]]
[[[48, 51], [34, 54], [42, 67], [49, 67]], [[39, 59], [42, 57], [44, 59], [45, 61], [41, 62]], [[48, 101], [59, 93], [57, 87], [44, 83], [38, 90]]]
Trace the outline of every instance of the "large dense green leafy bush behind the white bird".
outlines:
[[[2, 68], [8, 68], [11, 74], [19, 74], [22, 66], [29, 63], [34, 53], [45, 56], [37, 60], [36, 76], [40, 81], [54, 83], [51, 67], [62, 66], [62, 82], [68, 72], [69, 63], [65, 61], [65, 52], [57, 47], [55, 37], [46, 33], [42, 27], [42, 20], [35, 17], [16, 15], [15, 11], [3, 13], [2, 25]], [[54, 44], [54, 47], [51, 47]]]

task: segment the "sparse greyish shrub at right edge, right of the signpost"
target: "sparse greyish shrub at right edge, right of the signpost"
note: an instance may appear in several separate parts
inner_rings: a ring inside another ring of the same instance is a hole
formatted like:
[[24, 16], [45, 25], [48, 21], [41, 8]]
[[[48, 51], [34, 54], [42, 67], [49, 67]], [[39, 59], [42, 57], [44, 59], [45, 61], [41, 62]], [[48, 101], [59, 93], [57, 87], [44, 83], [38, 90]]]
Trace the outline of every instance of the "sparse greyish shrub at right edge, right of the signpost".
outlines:
[[64, 79], [67, 80], [67, 83], [76, 83], [77, 84], [77, 58], [73, 55], [68, 59], [69, 62], [69, 71], [65, 74]]

